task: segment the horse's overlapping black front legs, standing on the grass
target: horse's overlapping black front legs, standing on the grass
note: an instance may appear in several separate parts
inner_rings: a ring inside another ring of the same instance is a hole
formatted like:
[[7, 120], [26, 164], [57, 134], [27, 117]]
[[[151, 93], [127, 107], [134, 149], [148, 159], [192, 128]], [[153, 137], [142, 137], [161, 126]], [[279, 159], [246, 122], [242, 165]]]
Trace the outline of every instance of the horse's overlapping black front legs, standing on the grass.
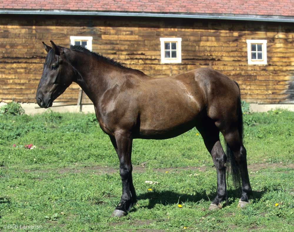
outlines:
[[132, 135], [130, 132], [118, 131], [115, 137], [110, 137], [113, 147], [119, 159], [119, 174], [121, 176], [123, 193], [121, 201], [113, 211], [112, 216], [125, 216], [131, 207], [136, 203], [136, 192], [132, 179]]

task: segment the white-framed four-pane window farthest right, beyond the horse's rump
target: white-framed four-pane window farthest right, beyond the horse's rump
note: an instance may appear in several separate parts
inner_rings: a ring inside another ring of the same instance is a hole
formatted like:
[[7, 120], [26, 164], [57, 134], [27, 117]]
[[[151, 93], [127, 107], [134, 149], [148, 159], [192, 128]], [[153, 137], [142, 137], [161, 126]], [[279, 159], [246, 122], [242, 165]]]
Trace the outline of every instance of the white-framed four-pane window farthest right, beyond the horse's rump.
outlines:
[[246, 40], [248, 64], [267, 64], [266, 40]]

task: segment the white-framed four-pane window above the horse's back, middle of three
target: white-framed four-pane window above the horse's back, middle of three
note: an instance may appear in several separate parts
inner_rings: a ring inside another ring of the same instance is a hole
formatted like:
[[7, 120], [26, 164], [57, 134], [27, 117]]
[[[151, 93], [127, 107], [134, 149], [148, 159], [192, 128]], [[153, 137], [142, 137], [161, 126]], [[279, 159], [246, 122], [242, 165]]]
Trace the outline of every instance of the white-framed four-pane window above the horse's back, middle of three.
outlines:
[[160, 38], [161, 63], [181, 63], [182, 38]]

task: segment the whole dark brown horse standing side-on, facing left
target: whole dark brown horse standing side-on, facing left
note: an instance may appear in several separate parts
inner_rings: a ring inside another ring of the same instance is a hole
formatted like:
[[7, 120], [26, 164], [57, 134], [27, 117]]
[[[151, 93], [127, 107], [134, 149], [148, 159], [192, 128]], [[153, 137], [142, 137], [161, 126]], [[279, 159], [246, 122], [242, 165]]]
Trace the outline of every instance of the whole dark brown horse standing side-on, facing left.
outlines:
[[[209, 209], [227, 200], [226, 163], [233, 179], [242, 180], [239, 206], [251, 194], [246, 149], [242, 142], [242, 110], [238, 84], [209, 68], [167, 78], [141, 71], [90, 52], [80, 46], [48, 52], [36, 93], [40, 107], [48, 108], [72, 82], [78, 83], [94, 104], [101, 129], [110, 137], [119, 159], [122, 196], [113, 216], [124, 216], [136, 202], [132, 180], [133, 139], [168, 139], [196, 127], [217, 171], [216, 197]], [[219, 139], [225, 138], [227, 154]]]

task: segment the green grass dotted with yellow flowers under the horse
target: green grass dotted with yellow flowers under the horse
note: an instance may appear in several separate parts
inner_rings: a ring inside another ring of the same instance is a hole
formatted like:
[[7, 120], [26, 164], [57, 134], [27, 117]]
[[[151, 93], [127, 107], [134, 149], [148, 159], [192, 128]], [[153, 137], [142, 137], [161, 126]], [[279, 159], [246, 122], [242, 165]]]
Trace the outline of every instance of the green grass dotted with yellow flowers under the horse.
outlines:
[[[293, 118], [294, 112], [282, 110], [244, 115], [254, 192], [244, 209], [237, 208], [240, 194], [229, 178], [230, 204], [207, 210], [216, 191], [216, 171], [196, 129], [168, 140], [135, 140], [138, 202], [126, 217], [111, 218], [121, 196], [118, 158], [93, 114], [1, 115], [0, 228], [293, 231]], [[24, 149], [31, 143], [35, 149]]]

